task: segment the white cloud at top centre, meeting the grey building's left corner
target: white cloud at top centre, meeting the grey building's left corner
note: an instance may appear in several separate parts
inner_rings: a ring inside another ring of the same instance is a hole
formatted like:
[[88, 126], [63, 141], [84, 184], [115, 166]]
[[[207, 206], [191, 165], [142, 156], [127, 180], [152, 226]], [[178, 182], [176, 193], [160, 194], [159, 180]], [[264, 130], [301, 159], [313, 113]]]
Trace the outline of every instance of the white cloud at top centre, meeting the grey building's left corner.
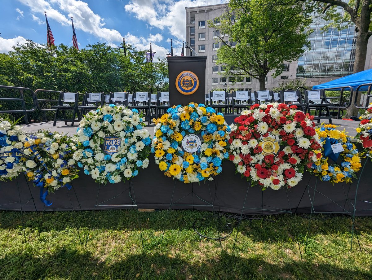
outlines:
[[185, 40], [186, 10], [185, 7], [205, 6], [225, 3], [224, 0], [131, 0], [124, 6], [129, 13], [134, 13], [137, 19], [143, 20], [153, 27], [164, 30]]

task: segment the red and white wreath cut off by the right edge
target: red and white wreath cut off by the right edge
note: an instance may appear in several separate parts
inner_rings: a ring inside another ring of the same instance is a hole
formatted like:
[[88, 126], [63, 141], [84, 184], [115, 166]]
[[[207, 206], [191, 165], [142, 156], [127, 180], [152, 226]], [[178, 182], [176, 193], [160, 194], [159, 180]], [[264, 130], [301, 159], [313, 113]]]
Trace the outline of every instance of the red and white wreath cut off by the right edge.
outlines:
[[365, 151], [370, 153], [372, 149], [372, 103], [367, 110], [359, 117], [360, 124], [356, 128], [355, 138], [363, 145]]

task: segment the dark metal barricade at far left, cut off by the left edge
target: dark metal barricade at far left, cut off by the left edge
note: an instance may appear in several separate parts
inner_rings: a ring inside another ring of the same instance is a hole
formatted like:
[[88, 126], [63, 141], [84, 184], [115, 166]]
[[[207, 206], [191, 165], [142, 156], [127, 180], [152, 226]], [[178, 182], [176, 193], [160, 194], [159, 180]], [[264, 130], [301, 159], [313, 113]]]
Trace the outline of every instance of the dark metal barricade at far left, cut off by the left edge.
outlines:
[[[20, 109], [14, 109], [14, 110], [0, 110], [0, 113], [8, 113], [8, 114], [14, 114], [14, 113], [22, 113], [23, 119], [25, 120], [25, 123], [28, 124], [28, 113], [35, 112], [36, 110], [36, 102], [35, 102], [35, 93], [27, 87], [12, 87], [12, 86], [0, 86], [1, 88], [5, 88], [7, 90], [18, 91], [19, 92], [19, 98], [14, 97], [0, 97], [1, 102], [9, 102], [11, 104], [10, 106], [17, 108], [17, 103], [20, 103]], [[31, 92], [31, 99], [32, 99], [32, 108], [28, 109], [25, 102], [25, 94], [24, 91], [30, 91]], [[3, 96], [3, 94], [0, 94]], [[12, 104], [13, 102], [13, 104]], [[4, 103], [3, 103], [4, 104]], [[2, 104], [2, 106], [3, 106]]]

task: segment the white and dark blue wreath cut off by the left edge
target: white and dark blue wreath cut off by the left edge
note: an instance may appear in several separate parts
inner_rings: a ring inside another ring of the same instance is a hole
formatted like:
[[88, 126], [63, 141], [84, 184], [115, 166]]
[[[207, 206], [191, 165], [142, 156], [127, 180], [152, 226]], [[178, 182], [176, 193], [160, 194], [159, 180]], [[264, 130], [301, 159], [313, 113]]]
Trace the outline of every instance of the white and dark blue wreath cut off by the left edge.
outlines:
[[26, 135], [18, 122], [0, 118], [0, 180], [18, 176], [26, 162], [21, 142]]

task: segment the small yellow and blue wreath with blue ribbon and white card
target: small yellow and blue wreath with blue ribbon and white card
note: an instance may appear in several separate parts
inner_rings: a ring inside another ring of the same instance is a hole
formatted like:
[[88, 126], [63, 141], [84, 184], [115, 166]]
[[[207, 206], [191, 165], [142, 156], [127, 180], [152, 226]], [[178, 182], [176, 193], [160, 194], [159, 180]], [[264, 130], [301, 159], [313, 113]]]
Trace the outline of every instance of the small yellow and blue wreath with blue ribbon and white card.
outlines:
[[[318, 158], [312, 164], [310, 172], [314, 173], [321, 181], [334, 183], [351, 183], [352, 178], [357, 178], [356, 173], [359, 171], [361, 159], [355, 144], [346, 135], [345, 130], [339, 131], [336, 125], [324, 125], [317, 128], [320, 142], [323, 144], [321, 149], [322, 157]], [[331, 150], [331, 144], [341, 143], [344, 151], [334, 155]], [[341, 158], [341, 165], [337, 164], [337, 158]], [[328, 164], [328, 156], [335, 162]]]

